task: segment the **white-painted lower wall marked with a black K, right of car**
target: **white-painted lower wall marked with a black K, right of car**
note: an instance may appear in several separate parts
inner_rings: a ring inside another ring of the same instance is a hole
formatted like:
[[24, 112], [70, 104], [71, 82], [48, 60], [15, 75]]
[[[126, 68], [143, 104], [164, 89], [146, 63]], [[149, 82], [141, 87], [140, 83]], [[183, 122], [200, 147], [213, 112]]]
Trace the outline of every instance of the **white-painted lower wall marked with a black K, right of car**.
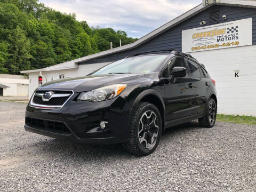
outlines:
[[192, 53], [216, 81], [218, 113], [256, 116], [256, 45]]

